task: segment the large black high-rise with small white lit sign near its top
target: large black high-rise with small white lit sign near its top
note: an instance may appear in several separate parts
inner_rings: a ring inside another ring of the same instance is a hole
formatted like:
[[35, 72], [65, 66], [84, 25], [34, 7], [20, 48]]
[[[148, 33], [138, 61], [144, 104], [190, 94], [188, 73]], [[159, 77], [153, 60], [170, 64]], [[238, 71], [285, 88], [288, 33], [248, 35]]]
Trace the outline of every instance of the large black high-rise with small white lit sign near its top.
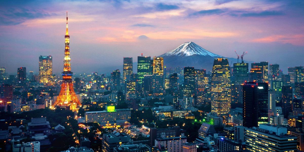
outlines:
[[243, 85], [243, 126], [251, 128], [268, 123], [268, 83]]

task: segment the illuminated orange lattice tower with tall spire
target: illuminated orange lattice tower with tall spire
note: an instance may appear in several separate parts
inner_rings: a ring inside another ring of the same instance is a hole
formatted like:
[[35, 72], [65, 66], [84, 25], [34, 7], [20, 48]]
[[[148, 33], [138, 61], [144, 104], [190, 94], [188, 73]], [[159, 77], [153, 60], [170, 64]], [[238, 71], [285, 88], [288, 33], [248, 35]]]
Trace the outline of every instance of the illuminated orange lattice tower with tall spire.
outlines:
[[55, 106], [68, 108], [72, 111], [78, 111], [79, 107], [81, 107], [81, 103], [79, 102], [73, 88], [72, 75], [71, 72], [71, 57], [70, 57], [70, 36], [68, 33], [68, 26], [65, 33], [65, 50], [64, 50], [64, 67], [62, 72], [62, 85], [60, 93], [57, 97]]

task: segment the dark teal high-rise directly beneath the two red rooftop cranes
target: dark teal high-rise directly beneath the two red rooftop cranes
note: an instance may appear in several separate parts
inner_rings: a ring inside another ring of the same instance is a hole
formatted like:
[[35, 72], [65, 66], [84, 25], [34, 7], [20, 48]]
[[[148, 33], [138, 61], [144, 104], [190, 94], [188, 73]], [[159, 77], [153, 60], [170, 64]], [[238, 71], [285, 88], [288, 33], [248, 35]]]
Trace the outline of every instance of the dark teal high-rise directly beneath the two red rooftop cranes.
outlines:
[[234, 84], [242, 84], [245, 81], [248, 81], [248, 63], [234, 63], [233, 64], [233, 77]]

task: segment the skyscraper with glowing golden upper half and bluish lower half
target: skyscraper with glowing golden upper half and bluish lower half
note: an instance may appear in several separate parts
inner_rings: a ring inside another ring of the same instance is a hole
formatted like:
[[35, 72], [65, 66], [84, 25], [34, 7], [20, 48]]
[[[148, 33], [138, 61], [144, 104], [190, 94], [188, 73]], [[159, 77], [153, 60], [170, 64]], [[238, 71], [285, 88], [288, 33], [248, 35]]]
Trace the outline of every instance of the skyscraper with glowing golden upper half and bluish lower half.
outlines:
[[164, 92], [164, 58], [153, 57], [152, 74], [153, 95], [162, 95]]

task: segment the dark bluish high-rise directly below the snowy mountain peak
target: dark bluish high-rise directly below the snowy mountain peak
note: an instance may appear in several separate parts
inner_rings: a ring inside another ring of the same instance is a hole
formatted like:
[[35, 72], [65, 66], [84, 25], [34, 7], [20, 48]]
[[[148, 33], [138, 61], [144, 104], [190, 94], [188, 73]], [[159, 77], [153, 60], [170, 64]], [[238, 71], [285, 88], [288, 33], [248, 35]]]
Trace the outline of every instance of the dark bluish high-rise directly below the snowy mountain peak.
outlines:
[[184, 83], [188, 84], [193, 96], [195, 91], [195, 69], [194, 67], [184, 67]]

